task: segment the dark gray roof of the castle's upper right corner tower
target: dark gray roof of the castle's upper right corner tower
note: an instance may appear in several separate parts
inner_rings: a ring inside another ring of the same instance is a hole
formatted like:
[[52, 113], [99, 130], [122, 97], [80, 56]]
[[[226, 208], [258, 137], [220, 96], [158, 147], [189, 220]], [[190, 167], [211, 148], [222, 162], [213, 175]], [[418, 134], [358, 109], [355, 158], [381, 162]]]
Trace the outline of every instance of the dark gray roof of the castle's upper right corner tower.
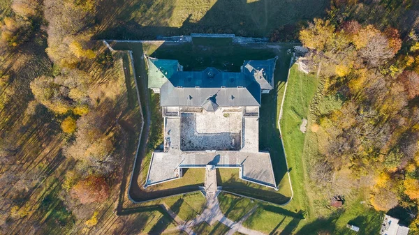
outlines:
[[244, 61], [242, 73], [252, 77], [260, 85], [260, 89], [270, 90], [274, 88], [274, 70], [278, 56], [265, 61]]

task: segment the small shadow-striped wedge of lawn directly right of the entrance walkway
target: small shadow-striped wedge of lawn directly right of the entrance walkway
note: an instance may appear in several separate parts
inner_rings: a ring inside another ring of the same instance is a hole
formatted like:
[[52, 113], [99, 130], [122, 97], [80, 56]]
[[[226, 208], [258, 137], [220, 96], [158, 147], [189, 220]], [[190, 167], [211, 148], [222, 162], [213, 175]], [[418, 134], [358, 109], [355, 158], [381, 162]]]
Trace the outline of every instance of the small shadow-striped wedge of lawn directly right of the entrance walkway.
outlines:
[[252, 202], [246, 197], [238, 197], [226, 192], [221, 192], [218, 196], [220, 209], [224, 215], [235, 222], [239, 221], [253, 206], [258, 202]]

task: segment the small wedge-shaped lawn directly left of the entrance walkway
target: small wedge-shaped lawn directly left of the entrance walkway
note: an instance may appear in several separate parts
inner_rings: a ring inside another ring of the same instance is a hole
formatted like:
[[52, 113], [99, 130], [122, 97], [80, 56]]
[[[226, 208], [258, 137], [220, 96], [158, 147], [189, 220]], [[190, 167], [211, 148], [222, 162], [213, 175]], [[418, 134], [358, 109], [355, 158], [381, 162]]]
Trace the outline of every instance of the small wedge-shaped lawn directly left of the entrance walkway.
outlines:
[[205, 209], [205, 197], [202, 193], [196, 192], [188, 195], [168, 197], [163, 201], [182, 220], [193, 220]]

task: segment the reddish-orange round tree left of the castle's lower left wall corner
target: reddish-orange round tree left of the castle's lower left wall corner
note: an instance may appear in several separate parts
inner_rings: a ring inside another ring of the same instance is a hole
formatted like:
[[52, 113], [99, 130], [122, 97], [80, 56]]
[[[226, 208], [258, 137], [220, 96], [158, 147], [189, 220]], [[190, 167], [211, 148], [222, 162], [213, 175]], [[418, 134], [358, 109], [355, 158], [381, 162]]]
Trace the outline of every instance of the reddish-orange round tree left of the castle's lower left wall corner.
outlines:
[[109, 197], [109, 186], [103, 177], [89, 176], [79, 181], [71, 192], [74, 197], [80, 200], [81, 204], [104, 202]]

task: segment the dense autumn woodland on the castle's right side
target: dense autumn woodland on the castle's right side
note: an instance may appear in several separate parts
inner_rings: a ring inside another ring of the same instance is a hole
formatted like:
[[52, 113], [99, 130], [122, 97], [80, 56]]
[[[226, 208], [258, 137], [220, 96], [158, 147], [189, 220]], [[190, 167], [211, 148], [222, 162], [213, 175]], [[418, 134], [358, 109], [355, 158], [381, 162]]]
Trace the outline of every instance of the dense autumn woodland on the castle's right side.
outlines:
[[[345, 10], [340, 7], [332, 6], [329, 20], [315, 19], [300, 31], [300, 40], [311, 49], [311, 66], [320, 66], [323, 77], [311, 107], [311, 130], [319, 139], [311, 179], [327, 185], [333, 172], [351, 169], [355, 179], [372, 187], [377, 210], [416, 208], [418, 37], [414, 30], [402, 38], [389, 25], [348, 20], [339, 15]], [[412, 229], [418, 224], [419, 219]]]

